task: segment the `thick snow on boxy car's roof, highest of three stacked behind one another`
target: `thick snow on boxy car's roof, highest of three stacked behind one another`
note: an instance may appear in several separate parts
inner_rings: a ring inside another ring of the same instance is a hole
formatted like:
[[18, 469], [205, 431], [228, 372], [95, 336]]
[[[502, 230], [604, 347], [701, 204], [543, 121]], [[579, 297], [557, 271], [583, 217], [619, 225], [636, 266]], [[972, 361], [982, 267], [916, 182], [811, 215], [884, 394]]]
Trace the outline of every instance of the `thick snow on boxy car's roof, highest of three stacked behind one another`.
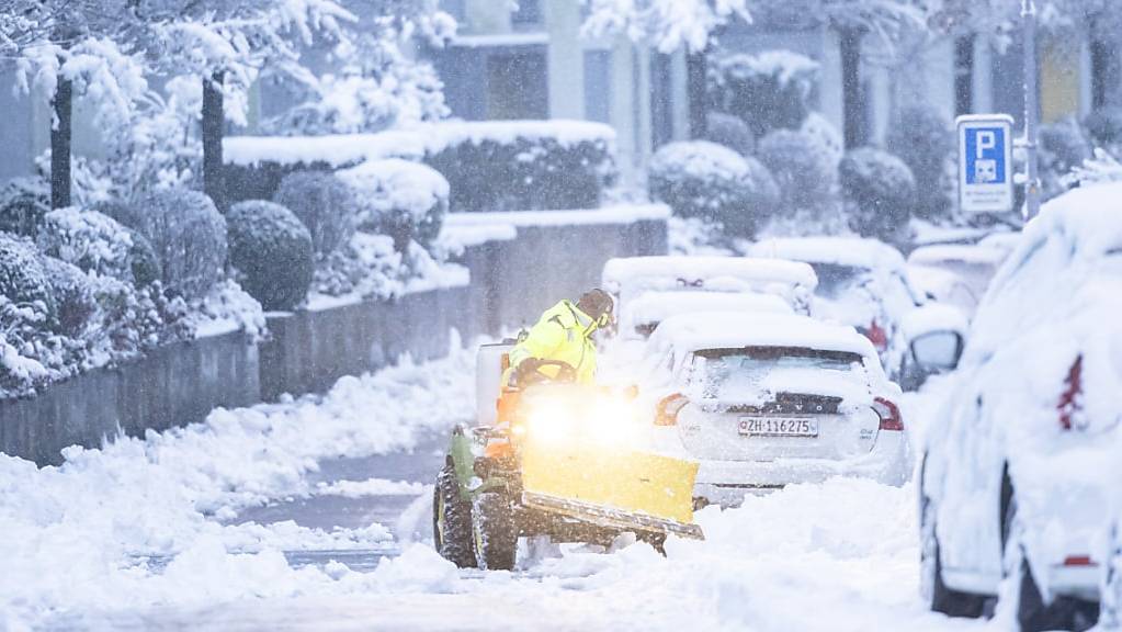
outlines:
[[627, 257], [609, 259], [604, 265], [604, 288], [618, 293], [641, 280], [669, 278], [690, 286], [703, 286], [718, 278], [751, 283], [801, 285], [808, 291], [818, 286], [815, 271], [798, 262], [749, 257]]

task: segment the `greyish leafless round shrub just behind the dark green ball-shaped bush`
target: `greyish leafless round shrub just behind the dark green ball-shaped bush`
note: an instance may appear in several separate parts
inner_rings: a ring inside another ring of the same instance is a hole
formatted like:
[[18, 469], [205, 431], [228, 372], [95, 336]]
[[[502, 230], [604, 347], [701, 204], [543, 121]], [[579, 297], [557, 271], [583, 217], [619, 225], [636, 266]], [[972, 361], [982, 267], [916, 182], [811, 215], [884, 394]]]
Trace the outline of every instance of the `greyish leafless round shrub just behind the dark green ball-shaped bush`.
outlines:
[[280, 181], [273, 201], [300, 218], [315, 254], [327, 257], [355, 235], [355, 195], [331, 173], [301, 171]]

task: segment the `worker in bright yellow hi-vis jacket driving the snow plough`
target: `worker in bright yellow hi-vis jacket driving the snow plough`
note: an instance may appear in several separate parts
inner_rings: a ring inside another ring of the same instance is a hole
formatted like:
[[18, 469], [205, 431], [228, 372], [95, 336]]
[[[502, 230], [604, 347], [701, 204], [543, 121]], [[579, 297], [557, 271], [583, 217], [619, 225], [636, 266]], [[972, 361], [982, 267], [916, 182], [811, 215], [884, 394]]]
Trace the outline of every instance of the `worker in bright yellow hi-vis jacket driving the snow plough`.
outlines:
[[596, 378], [596, 344], [592, 333], [611, 320], [611, 296], [603, 290], [589, 290], [573, 303], [564, 300], [553, 305], [530, 332], [511, 350], [507, 382], [521, 384], [534, 373], [557, 377], [561, 369], [542, 366], [541, 360], [560, 360], [577, 372], [577, 382], [591, 384]]

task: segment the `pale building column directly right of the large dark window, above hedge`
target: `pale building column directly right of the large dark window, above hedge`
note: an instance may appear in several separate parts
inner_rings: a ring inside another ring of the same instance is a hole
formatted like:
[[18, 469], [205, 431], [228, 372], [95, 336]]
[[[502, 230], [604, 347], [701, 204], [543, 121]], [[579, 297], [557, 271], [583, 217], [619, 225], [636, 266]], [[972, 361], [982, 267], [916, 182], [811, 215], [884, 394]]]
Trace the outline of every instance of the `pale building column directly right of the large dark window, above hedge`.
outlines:
[[550, 118], [585, 118], [585, 47], [580, 40], [580, 4], [571, 0], [548, 0], [545, 28]]

